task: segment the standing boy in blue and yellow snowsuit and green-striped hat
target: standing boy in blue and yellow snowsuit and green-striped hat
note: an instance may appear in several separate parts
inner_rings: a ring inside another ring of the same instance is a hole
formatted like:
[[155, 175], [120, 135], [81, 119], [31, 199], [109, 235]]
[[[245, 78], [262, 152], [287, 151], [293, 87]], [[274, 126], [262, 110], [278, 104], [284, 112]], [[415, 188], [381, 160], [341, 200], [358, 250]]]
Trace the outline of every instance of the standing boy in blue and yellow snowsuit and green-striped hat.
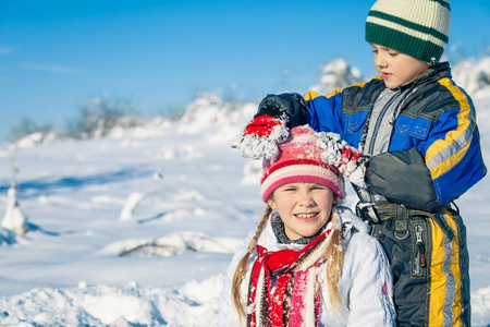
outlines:
[[308, 123], [364, 154], [356, 209], [390, 259], [400, 326], [470, 326], [466, 232], [451, 204], [487, 169], [471, 99], [439, 63], [450, 21], [445, 0], [378, 0], [366, 40], [380, 76], [327, 96], [270, 95], [237, 145], [250, 156]]

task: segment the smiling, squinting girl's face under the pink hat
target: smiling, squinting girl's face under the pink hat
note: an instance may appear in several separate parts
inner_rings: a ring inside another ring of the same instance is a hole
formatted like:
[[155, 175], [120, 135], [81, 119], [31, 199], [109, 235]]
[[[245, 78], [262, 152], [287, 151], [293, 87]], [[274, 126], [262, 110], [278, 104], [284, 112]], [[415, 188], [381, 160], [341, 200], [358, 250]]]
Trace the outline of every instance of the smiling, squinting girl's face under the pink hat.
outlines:
[[315, 235], [330, 219], [333, 192], [315, 183], [290, 183], [278, 187], [268, 204], [278, 209], [290, 240]]

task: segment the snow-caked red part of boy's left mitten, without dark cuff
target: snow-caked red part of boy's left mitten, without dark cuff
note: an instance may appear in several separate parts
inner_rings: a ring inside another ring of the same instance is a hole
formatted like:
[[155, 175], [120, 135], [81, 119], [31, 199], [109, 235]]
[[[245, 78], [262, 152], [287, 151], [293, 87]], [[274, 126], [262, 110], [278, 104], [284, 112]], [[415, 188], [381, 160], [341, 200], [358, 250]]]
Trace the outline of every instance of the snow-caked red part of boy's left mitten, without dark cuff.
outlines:
[[243, 133], [232, 141], [232, 147], [237, 148], [245, 158], [271, 159], [278, 154], [278, 143], [284, 142], [287, 135], [283, 120], [271, 116], [257, 116]]

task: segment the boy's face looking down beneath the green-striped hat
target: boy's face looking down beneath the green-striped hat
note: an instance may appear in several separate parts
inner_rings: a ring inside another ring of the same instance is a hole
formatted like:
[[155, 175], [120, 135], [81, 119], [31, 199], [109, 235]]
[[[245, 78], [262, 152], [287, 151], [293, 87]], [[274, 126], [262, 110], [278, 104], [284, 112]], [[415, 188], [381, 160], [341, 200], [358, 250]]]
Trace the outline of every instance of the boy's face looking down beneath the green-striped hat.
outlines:
[[388, 88], [396, 88], [429, 69], [429, 64], [396, 50], [371, 44], [375, 65]]

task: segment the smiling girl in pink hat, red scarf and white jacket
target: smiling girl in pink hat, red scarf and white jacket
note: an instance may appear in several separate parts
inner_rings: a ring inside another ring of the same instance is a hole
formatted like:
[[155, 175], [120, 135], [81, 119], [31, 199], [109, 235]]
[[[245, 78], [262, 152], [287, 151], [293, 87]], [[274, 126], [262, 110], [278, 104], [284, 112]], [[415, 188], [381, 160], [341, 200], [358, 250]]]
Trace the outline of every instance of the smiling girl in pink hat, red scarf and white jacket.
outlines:
[[219, 326], [393, 326], [392, 276], [344, 201], [320, 134], [295, 128], [264, 160], [266, 213], [224, 278]]

